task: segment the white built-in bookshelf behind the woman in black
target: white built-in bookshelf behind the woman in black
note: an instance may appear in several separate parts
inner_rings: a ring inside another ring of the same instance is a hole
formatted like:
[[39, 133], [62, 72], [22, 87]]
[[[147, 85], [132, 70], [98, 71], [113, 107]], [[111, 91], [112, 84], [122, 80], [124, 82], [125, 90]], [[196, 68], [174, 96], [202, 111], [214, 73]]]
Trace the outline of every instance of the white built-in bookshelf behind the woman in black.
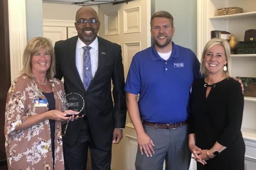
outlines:
[[[241, 7], [242, 14], [217, 16], [222, 7]], [[200, 61], [204, 45], [211, 39], [211, 31], [221, 30], [244, 40], [244, 32], [256, 29], [256, 0], [197, 0], [197, 56]], [[256, 54], [232, 54], [231, 75], [256, 77]], [[242, 134], [245, 141], [245, 169], [256, 167], [256, 98], [244, 97]]]

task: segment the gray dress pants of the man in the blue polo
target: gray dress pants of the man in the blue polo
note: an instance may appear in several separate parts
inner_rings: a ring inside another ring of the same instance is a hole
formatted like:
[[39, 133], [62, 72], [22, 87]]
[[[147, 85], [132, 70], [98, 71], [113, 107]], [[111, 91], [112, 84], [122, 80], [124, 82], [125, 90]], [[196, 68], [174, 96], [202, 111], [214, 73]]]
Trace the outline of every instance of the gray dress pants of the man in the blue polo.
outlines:
[[143, 124], [144, 130], [154, 142], [155, 153], [147, 157], [141, 155], [138, 146], [136, 170], [162, 170], [165, 161], [166, 170], [188, 170], [191, 152], [188, 148], [188, 124], [176, 129], [156, 129]]

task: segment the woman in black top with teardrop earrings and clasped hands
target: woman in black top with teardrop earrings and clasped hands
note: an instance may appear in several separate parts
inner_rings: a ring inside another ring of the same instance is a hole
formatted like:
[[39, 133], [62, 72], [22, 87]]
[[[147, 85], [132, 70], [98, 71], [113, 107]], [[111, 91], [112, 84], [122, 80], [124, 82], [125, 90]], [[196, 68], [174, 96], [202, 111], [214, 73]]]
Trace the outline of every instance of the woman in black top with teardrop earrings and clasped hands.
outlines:
[[230, 48], [213, 38], [204, 47], [191, 92], [189, 149], [198, 170], [244, 170], [241, 133], [244, 99], [239, 82], [230, 78]]

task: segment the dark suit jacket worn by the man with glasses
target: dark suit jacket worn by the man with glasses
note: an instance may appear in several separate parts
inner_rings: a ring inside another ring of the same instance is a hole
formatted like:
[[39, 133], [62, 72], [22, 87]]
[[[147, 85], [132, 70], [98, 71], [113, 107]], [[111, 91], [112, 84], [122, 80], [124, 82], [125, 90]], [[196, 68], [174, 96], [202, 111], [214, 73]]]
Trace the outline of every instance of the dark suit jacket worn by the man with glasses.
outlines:
[[[80, 79], [75, 65], [77, 36], [57, 41], [54, 47], [56, 57], [56, 78], [64, 77], [66, 94], [79, 93], [85, 100], [84, 112], [88, 117], [90, 130], [97, 147], [104, 147], [112, 140], [114, 128], [124, 128], [126, 103], [124, 91], [124, 67], [122, 51], [118, 44], [98, 37], [98, 68], [87, 91]], [[111, 96], [113, 81], [113, 99]], [[83, 119], [69, 122], [63, 142], [73, 145], [76, 141]]]

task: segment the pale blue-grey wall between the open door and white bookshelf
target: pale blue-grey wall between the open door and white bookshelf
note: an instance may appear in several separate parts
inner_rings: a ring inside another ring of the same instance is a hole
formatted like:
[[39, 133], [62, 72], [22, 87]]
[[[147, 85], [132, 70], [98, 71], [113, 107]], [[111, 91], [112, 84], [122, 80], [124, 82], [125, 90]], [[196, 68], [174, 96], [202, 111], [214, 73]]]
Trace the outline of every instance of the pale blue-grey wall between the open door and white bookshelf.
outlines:
[[[196, 0], [152, 0], [155, 12], [164, 10], [174, 18], [173, 42], [197, 53], [197, 1]], [[153, 14], [152, 14], [153, 15]]]

